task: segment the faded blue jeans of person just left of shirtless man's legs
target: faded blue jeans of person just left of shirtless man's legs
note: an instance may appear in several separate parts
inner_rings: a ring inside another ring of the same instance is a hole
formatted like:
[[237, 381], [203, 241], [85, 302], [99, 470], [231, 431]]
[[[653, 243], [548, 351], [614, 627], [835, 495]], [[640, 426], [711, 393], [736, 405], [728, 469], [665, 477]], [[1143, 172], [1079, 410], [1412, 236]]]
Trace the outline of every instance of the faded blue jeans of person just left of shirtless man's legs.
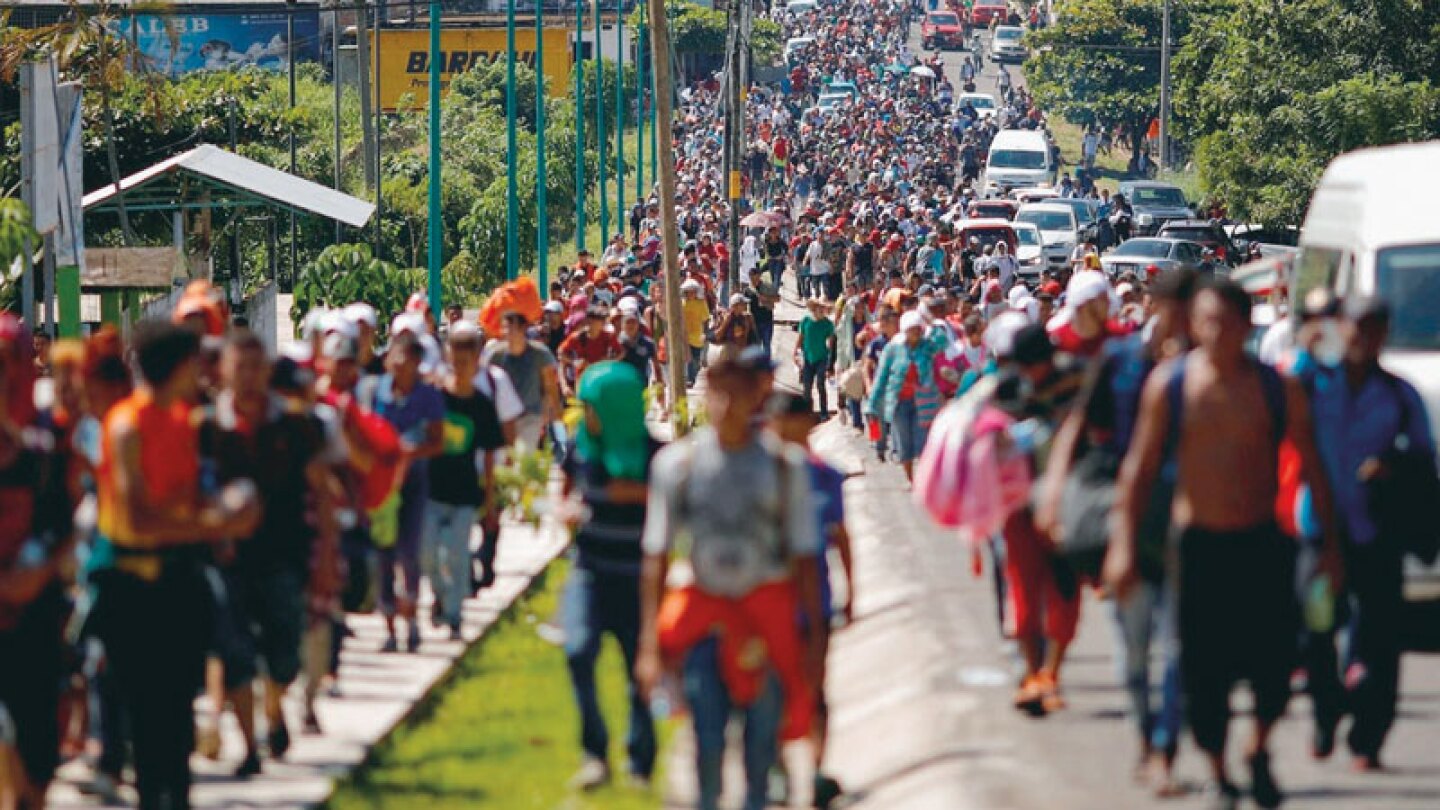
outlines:
[[[1130, 698], [1130, 718], [1153, 751], [1175, 754], [1179, 744], [1179, 633], [1174, 585], [1142, 579], [1123, 601], [1110, 602], [1116, 664]], [[1151, 643], [1161, 650], [1159, 706], [1151, 698]]]

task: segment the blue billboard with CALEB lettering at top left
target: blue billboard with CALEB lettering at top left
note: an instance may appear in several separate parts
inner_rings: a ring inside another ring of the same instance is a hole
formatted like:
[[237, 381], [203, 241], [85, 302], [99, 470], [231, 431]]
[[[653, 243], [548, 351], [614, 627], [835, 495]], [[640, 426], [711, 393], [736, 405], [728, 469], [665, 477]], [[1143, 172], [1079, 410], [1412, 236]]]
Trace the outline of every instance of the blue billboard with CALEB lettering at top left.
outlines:
[[[121, 17], [117, 33], [135, 37], [156, 71], [177, 76], [192, 71], [256, 66], [284, 71], [289, 14], [243, 12], [213, 14], [134, 14]], [[173, 39], [171, 39], [173, 32]], [[320, 59], [320, 12], [295, 10], [295, 61]]]

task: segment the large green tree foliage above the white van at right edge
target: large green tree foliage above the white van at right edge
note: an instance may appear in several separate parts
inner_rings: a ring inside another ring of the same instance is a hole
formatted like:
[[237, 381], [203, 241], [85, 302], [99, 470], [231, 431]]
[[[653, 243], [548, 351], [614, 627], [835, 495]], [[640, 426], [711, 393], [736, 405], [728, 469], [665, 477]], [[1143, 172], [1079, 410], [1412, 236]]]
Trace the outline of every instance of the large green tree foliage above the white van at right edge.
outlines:
[[1440, 6], [1224, 4], [1175, 58], [1176, 131], [1233, 215], [1299, 225], [1338, 154], [1440, 135]]

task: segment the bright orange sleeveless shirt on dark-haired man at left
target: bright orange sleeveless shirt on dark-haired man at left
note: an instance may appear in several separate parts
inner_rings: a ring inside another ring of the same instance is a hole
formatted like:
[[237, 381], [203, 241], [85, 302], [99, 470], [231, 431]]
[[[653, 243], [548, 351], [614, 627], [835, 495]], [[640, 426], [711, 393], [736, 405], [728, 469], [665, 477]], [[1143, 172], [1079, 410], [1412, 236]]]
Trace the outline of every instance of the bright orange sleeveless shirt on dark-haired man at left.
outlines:
[[115, 491], [115, 432], [134, 425], [140, 435], [140, 486], [156, 509], [189, 513], [200, 486], [199, 431], [190, 405], [176, 402], [160, 408], [147, 392], [137, 391], [115, 404], [101, 428], [101, 461], [95, 471], [99, 496], [99, 530], [112, 543], [128, 549], [153, 549], [153, 538], [135, 530], [130, 506]]

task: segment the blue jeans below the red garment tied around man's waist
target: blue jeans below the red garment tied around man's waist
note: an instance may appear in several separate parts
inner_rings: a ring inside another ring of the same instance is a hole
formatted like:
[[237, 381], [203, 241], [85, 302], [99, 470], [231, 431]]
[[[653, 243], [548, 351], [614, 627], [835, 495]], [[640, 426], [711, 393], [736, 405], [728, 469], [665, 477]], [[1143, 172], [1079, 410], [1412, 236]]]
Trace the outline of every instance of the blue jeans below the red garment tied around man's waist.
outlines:
[[[701, 641], [685, 659], [685, 702], [696, 724], [696, 768], [700, 777], [700, 810], [720, 806], [724, 731], [730, 722], [730, 693], [720, 679], [714, 638]], [[744, 711], [744, 810], [765, 810], [766, 780], [779, 757], [780, 685], [766, 679], [755, 703]]]

